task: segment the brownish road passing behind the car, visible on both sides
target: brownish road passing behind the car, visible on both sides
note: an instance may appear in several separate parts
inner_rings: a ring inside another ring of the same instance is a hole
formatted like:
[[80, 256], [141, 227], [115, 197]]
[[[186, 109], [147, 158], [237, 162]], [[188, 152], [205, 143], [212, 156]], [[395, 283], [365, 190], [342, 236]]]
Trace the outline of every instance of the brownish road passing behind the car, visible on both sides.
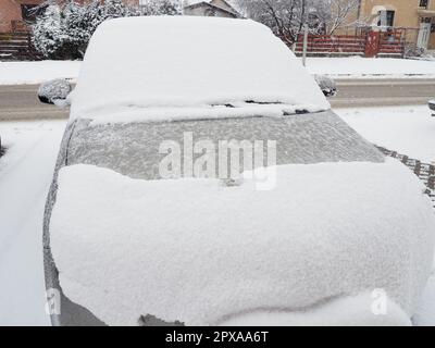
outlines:
[[[435, 79], [340, 79], [333, 108], [425, 104], [435, 98]], [[37, 85], [0, 86], [0, 121], [66, 119], [67, 109], [42, 104]]]

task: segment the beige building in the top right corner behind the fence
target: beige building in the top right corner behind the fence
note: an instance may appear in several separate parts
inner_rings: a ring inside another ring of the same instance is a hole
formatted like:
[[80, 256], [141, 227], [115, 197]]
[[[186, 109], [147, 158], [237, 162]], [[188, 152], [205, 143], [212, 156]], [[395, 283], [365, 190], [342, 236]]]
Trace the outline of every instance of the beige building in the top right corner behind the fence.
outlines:
[[407, 28], [407, 41], [435, 49], [435, 0], [361, 0], [358, 15], [381, 30]]

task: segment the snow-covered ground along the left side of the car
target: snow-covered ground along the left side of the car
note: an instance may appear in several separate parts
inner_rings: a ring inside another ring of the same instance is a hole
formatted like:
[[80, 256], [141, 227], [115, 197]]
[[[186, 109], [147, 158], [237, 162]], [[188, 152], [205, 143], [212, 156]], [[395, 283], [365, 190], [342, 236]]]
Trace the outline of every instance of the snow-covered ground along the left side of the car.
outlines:
[[49, 325], [42, 216], [65, 121], [4, 122], [0, 135], [0, 325]]

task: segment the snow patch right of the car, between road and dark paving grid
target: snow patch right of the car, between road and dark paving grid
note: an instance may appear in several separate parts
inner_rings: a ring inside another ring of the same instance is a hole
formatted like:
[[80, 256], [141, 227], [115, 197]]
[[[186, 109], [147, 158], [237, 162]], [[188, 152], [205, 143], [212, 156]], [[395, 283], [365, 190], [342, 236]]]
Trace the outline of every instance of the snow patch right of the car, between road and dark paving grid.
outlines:
[[426, 163], [435, 162], [435, 117], [427, 105], [335, 112], [369, 141]]

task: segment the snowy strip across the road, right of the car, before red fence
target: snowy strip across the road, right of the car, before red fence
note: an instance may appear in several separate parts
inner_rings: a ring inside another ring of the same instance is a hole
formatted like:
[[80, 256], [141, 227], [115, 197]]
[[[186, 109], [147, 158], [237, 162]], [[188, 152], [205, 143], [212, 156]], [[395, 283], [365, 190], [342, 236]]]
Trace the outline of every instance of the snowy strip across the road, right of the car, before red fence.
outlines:
[[311, 74], [333, 77], [435, 77], [435, 61], [390, 58], [308, 58]]

